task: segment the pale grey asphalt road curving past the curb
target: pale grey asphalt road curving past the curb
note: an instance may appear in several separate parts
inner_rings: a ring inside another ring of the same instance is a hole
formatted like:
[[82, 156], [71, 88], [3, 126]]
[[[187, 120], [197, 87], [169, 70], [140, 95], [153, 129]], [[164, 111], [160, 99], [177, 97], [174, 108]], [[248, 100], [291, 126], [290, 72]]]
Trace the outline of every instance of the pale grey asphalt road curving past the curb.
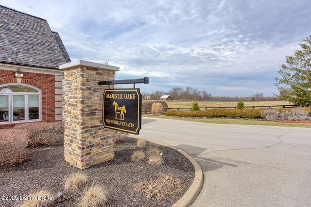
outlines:
[[204, 184], [191, 207], [311, 206], [311, 128], [143, 118], [139, 134], [197, 160]]

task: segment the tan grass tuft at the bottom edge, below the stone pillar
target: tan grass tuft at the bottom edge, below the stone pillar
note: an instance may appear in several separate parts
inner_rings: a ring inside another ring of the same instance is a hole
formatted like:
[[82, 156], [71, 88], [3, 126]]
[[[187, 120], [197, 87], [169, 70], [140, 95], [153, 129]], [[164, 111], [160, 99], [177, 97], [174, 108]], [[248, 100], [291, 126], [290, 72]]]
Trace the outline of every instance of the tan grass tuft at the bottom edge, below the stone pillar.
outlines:
[[84, 191], [79, 207], [105, 207], [107, 198], [107, 192], [102, 186], [92, 185]]

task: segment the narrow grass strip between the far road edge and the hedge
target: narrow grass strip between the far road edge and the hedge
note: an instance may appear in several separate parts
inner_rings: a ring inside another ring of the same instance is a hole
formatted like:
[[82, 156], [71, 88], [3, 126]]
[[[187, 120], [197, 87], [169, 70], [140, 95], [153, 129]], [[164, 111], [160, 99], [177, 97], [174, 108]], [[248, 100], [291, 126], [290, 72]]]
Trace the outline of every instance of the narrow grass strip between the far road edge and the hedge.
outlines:
[[310, 123], [282, 123], [275, 121], [258, 121], [258, 120], [243, 120], [243, 119], [213, 119], [213, 118], [177, 118], [168, 116], [152, 116], [144, 115], [145, 117], [155, 117], [161, 119], [173, 119], [183, 121], [198, 121], [205, 123], [220, 123], [220, 124], [243, 124], [243, 125], [262, 125], [262, 126], [288, 126], [288, 127], [304, 127], [311, 128]]

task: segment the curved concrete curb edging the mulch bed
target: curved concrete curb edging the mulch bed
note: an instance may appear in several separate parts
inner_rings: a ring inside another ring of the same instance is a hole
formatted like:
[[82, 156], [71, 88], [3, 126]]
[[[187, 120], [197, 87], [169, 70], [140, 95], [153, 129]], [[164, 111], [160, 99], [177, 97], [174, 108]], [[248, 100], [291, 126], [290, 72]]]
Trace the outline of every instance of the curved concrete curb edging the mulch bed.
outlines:
[[[135, 137], [132, 137], [132, 138], [135, 138]], [[189, 207], [193, 203], [193, 201], [196, 199], [196, 197], [198, 196], [198, 194], [200, 193], [200, 191], [202, 189], [204, 178], [203, 178], [203, 172], [202, 172], [200, 165], [190, 155], [188, 155], [184, 151], [182, 151], [182, 150], [180, 150], [174, 146], [164, 144], [164, 143], [160, 143], [160, 142], [156, 142], [156, 141], [151, 141], [148, 139], [145, 139], [145, 140], [149, 141], [151, 143], [154, 143], [154, 144], [162, 145], [165, 147], [170, 147], [170, 148], [180, 152], [185, 157], [187, 157], [190, 160], [190, 162], [192, 163], [192, 165], [194, 166], [195, 175], [194, 175], [194, 179], [193, 179], [192, 184], [190, 185], [189, 189], [185, 192], [185, 194], [176, 203], [174, 203], [174, 205], [172, 206], [172, 207]]]

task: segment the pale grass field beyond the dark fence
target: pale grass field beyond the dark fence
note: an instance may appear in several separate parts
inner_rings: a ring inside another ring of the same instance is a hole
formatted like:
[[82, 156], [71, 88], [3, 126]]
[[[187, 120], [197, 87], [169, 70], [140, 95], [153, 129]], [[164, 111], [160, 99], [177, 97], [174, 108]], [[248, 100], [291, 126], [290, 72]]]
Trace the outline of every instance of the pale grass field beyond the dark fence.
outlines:
[[[169, 108], [187, 108], [192, 107], [192, 102], [166, 102]], [[218, 106], [236, 106], [237, 102], [198, 102], [200, 107], [218, 107]], [[244, 102], [245, 106], [269, 106], [269, 105], [292, 105], [283, 101], [267, 101], [267, 102]]]

